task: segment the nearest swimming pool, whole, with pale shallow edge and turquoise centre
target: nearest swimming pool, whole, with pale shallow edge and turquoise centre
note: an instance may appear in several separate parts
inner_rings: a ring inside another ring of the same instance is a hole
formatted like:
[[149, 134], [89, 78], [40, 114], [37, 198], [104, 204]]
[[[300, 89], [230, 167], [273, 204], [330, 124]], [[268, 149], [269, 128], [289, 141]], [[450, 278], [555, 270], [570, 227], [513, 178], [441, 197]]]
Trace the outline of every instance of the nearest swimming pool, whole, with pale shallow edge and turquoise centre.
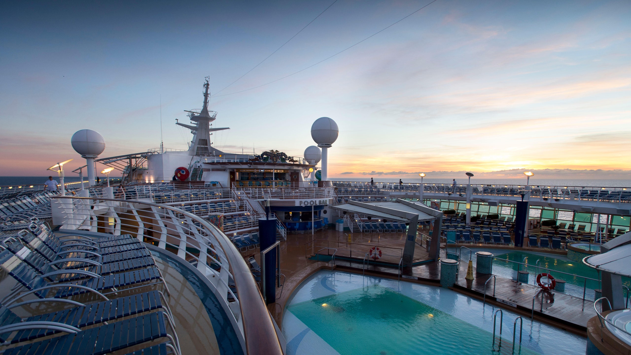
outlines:
[[[297, 287], [282, 328], [288, 355], [511, 354], [517, 315], [504, 311], [502, 338], [493, 344], [495, 310], [441, 287], [321, 270]], [[526, 318], [515, 354], [585, 348], [584, 338]]]

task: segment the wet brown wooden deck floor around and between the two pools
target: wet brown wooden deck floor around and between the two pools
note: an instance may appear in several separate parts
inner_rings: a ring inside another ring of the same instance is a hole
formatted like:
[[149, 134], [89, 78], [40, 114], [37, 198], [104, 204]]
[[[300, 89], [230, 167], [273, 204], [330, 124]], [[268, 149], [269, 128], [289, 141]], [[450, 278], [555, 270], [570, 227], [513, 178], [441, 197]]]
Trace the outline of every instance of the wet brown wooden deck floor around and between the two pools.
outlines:
[[[283, 308], [289, 296], [292, 294], [295, 287], [297, 287], [302, 281], [307, 279], [309, 275], [321, 268], [330, 268], [331, 263], [317, 262], [317, 260], [310, 260], [310, 256], [313, 254], [313, 248], [310, 246], [314, 243], [314, 239], [328, 241], [329, 245], [336, 244], [338, 252], [336, 256], [348, 256], [341, 253], [342, 246], [348, 243], [348, 235], [338, 231], [320, 231], [316, 232], [314, 236], [311, 234], [290, 234], [287, 236], [287, 240], [281, 242], [281, 273], [285, 275], [285, 282], [281, 292], [278, 289], [276, 303], [269, 304], [268, 308], [271, 314], [274, 316], [276, 323], [281, 326], [281, 318], [283, 314]], [[383, 246], [384, 248], [402, 248], [405, 240], [404, 233], [355, 233], [350, 234], [351, 243], [355, 244], [370, 244], [374, 246]], [[331, 246], [332, 247], [332, 246]], [[358, 254], [362, 253], [361, 248], [358, 247], [357, 253], [353, 247], [353, 258], [357, 258]], [[346, 248], [345, 253], [349, 253], [350, 248]], [[248, 251], [243, 253], [244, 256], [254, 255], [259, 260], [258, 250]], [[418, 256], [419, 260], [427, 258], [427, 252], [425, 248], [419, 248], [417, 246], [415, 258]], [[321, 253], [326, 253], [322, 251]], [[365, 252], [363, 252], [365, 253]], [[357, 254], [357, 255], [356, 255]], [[383, 275], [385, 277], [399, 277], [397, 267], [379, 265], [377, 263], [368, 263], [368, 265], [362, 265], [360, 256], [359, 260], [348, 260], [347, 258], [336, 258], [336, 268], [343, 270], [349, 270], [351, 272], [367, 272], [374, 275]], [[396, 264], [398, 264], [399, 258], [396, 258]], [[481, 298], [484, 292], [484, 283], [490, 277], [490, 275], [478, 274], [474, 265], [474, 277], [473, 281], [465, 279], [467, 271], [467, 263], [461, 263], [459, 276], [456, 280], [456, 284], [452, 287], [455, 291], [469, 294], [475, 298]], [[422, 265], [418, 265], [411, 268], [404, 268], [401, 275], [403, 279], [410, 282], [424, 282], [439, 285], [440, 281], [440, 263], [429, 262]], [[493, 297], [493, 280], [487, 284], [487, 302], [498, 306], [502, 303], [503, 308], [512, 309], [521, 313], [524, 318], [527, 318], [531, 314], [533, 296], [538, 290], [538, 287], [528, 284], [519, 284], [516, 281], [505, 279], [503, 277], [496, 276], [495, 297]], [[543, 304], [541, 299], [543, 297]], [[534, 306], [534, 316], [538, 320], [544, 322], [550, 322], [559, 327], [567, 327], [577, 334], [581, 334], [586, 329], [587, 321], [595, 316], [596, 313], [592, 307], [590, 301], [583, 303], [581, 298], [575, 298], [562, 292], [540, 292], [536, 296]]]

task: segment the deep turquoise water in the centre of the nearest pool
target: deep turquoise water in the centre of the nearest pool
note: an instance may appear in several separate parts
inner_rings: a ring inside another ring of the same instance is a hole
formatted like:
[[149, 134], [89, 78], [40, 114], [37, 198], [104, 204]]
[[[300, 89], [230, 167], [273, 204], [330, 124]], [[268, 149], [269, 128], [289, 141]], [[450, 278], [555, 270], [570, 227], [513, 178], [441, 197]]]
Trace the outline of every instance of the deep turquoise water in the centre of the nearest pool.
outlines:
[[[340, 354], [477, 355], [512, 350], [506, 344], [493, 347], [493, 335], [485, 330], [379, 285], [292, 304], [288, 310]], [[522, 349], [521, 354], [536, 352]]]

